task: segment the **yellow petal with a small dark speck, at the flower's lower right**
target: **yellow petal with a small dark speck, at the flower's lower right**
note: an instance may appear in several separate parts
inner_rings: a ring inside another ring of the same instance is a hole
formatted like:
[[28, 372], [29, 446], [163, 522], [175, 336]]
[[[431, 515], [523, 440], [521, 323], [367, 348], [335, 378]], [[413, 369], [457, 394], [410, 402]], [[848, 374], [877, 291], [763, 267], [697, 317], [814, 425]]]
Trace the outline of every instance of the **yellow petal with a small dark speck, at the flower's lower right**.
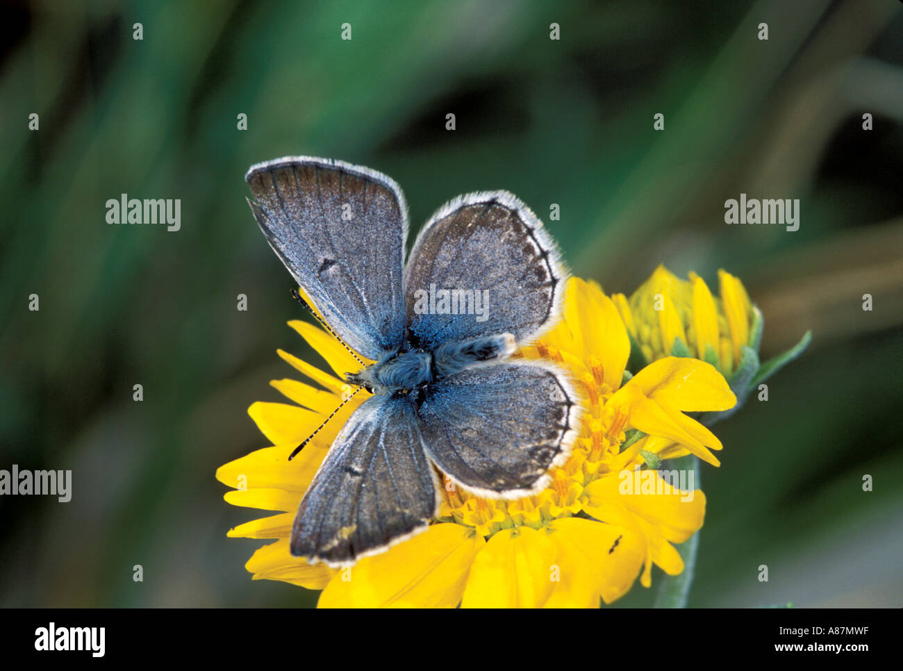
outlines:
[[634, 532], [581, 517], [556, 519], [549, 527], [558, 545], [561, 580], [554, 583], [550, 608], [597, 608], [626, 594], [646, 556]]

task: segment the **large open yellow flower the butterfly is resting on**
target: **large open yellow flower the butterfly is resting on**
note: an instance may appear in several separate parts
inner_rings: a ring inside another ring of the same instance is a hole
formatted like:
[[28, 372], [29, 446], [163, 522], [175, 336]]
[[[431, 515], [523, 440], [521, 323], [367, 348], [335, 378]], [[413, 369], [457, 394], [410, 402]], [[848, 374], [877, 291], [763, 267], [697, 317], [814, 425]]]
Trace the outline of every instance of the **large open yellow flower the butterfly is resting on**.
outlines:
[[[326, 333], [290, 324], [338, 376], [357, 369]], [[647, 459], [688, 452], [717, 465], [711, 450], [721, 443], [684, 411], [721, 411], [736, 399], [718, 371], [696, 359], [667, 357], [624, 383], [629, 354], [615, 304], [598, 284], [571, 279], [563, 321], [516, 355], [553, 359], [582, 383], [581, 433], [548, 487], [524, 499], [484, 499], [444, 478], [438, 517], [424, 533], [349, 568], [330, 569], [289, 553], [293, 514], [343, 421], [367, 394], [358, 394], [298, 458], [286, 461], [339, 405], [343, 384], [280, 352], [326, 391], [280, 380], [274, 387], [299, 405], [250, 407], [275, 445], [220, 467], [217, 477], [238, 489], [226, 494], [229, 503], [283, 512], [229, 536], [275, 538], [256, 551], [247, 570], [255, 579], [322, 589], [321, 607], [597, 607], [600, 599], [610, 603], [628, 592], [637, 577], [648, 587], [652, 564], [680, 573], [683, 561], [671, 544], [702, 526], [705, 497], [678, 489], [681, 483], [663, 478], [666, 471], [643, 467]]]

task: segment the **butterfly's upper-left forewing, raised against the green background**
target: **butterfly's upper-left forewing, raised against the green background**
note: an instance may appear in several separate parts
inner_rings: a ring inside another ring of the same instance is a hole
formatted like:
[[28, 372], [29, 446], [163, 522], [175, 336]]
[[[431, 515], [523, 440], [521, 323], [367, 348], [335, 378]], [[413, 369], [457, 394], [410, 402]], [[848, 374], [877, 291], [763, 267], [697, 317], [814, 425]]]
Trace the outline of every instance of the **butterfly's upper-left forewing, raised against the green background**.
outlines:
[[323, 318], [368, 359], [405, 336], [407, 206], [386, 175], [305, 156], [245, 175], [266, 239]]

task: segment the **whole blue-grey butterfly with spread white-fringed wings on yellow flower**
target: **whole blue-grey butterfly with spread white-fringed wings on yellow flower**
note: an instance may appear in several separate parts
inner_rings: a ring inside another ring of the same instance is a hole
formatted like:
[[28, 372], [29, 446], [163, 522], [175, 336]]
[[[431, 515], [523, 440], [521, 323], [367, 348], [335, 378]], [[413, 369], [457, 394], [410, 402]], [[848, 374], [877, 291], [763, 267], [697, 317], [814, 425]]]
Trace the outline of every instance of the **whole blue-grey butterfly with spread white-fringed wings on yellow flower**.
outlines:
[[298, 156], [245, 179], [312, 312], [374, 362], [358, 359], [346, 377], [372, 396], [304, 494], [292, 555], [346, 566], [424, 531], [441, 500], [436, 469], [481, 497], [544, 489], [576, 439], [580, 404], [562, 368], [510, 356], [562, 310], [567, 272], [535, 214], [507, 191], [461, 195], [405, 263], [405, 196], [385, 174]]

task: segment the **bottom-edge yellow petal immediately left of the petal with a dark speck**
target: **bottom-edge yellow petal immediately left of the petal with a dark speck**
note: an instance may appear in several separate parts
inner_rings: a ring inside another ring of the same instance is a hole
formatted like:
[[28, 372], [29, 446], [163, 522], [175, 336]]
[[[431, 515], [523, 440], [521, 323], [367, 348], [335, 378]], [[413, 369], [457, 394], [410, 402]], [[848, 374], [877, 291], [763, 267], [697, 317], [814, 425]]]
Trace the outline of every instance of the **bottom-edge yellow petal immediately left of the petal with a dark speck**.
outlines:
[[545, 529], [503, 529], [470, 568], [461, 608], [538, 608], [552, 592], [556, 549]]

